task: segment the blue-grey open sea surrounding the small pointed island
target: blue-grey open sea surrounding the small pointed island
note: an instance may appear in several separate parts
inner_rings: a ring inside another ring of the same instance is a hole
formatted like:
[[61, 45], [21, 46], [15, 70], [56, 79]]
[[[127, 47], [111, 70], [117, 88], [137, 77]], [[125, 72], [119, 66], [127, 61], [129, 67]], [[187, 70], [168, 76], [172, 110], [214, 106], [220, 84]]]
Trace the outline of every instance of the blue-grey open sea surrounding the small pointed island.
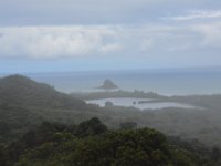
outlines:
[[114, 71], [29, 74], [63, 92], [97, 91], [105, 79], [110, 79], [122, 90], [157, 92], [165, 95], [221, 93], [221, 71]]

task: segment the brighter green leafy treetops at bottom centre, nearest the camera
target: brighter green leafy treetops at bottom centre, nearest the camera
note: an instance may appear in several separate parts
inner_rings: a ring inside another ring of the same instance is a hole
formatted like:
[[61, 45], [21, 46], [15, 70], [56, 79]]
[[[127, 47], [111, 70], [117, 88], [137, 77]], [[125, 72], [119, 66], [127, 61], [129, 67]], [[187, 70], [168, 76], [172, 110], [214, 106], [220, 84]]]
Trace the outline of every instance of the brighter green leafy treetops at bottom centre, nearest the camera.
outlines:
[[[95, 118], [91, 121], [94, 122]], [[178, 154], [177, 157], [175, 154]], [[161, 133], [143, 128], [110, 131], [83, 138], [72, 134], [56, 133], [52, 142], [46, 142], [22, 155], [17, 166], [29, 164], [42, 166], [52, 164], [54, 166], [170, 166], [175, 165], [175, 162], [180, 164], [186, 162], [185, 166], [194, 165], [185, 153], [170, 148]]]

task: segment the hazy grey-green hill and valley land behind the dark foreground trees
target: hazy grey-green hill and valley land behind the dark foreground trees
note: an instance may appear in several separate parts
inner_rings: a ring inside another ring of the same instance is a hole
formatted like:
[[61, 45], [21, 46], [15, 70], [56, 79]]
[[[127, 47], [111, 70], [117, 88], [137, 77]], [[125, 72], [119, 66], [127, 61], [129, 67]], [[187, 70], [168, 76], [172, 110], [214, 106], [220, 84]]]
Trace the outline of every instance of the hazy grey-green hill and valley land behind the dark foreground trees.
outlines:
[[[187, 139], [198, 138], [208, 146], [221, 146], [219, 98], [211, 104], [213, 108], [208, 106], [202, 111], [177, 107], [155, 111], [146, 110], [144, 112], [134, 107], [123, 106], [101, 108], [96, 105], [85, 104], [81, 100], [75, 100], [49, 85], [36, 83], [21, 75], [1, 79], [0, 91], [0, 126], [4, 128], [1, 129], [0, 139], [7, 139], [8, 136], [14, 137], [14, 134], [19, 135], [19, 133], [23, 133], [43, 121], [77, 124], [96, 116], [110, 128], [117, 128], [120, 122], [134, 121], [137, 122], [139, 127], [149, 126], [165, 134]], [[122, 94], [127, 96], [130, 93]], [[137, 92], [136, 95], [140, 94], [143, 93]], [[118, 95], [118, 92], [105, 93], [105, 95]], [[156, 94], [147, 93], [143, 95], [151, 96]], [[99, 94], [92, 95], [92, 97], [97, 96]], [[213, 96], [206, 95], [203, 98], [213, 98]], [[188, 103], [188, 96], [164, 97], [164, 100], [179, 100], [179, 102]], [[201, 98], [194, 97], [190, 101], [193, 102], [194, 100], [201, 101]]]

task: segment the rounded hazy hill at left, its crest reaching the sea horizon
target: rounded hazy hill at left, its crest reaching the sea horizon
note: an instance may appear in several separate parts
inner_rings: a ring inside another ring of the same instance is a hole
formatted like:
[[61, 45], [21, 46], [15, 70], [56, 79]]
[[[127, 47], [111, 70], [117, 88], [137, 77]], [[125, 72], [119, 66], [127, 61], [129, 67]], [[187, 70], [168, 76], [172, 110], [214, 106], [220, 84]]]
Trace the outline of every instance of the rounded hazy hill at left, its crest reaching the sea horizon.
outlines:
[[20, 106], [77, 108], [85, 105], [83, 101], [22, 75], [10, 75], [0, 79], [0, 100]]

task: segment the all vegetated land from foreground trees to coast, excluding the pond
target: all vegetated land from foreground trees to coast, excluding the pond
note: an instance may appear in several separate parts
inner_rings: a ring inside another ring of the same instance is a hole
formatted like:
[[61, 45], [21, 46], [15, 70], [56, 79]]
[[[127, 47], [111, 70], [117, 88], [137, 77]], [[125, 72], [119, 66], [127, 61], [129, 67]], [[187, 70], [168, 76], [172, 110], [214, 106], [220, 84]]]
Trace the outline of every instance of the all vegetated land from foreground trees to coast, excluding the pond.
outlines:
[[[8, 76], [0, 79], [0, 165], [221, 165], [220, 95], [105, 93], [107, 97], [119, 94], [179, 101], [204, 110], [101, 108], [77, 100], [96, 98], [99, 93], [70, 96], [21, 75]], [[92, 120], [81, 123], [88, 118]], [[118, 131], [123, 122], [136, 122], [140, 129]]]

